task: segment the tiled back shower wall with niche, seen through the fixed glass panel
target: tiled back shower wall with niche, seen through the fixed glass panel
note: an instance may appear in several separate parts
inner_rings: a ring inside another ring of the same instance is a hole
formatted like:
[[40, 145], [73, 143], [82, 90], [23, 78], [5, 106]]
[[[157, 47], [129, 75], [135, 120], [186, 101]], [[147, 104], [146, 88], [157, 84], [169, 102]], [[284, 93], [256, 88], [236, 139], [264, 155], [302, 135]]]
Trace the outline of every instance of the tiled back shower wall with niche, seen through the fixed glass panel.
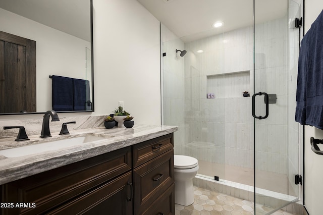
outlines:
[[[253, 168], [251, 98], [242, 96], [243, 91], [252, 94], [253, 90], [252, 29], [185, 44], [189, 53], [185, 92], [196, 88], [196, 93], [185, 95], [186, 142], [195, 143], [195, 148], [186, 148], [186, 154], [211, 163]], [[204, 51], [197, 53], [199, 49]], [[194, 73], [190, 73], [192, 68]], [[214, 93], [214, 98], [206, 98], [206, 93]], [[219, 173], [211, 174], [225, 179]]]

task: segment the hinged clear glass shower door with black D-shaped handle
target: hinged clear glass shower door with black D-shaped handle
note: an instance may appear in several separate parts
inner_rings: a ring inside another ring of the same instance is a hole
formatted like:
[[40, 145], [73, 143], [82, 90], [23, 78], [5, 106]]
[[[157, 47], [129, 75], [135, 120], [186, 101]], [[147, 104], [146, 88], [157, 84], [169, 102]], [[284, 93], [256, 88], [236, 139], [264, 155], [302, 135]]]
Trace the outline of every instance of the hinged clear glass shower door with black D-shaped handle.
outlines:
[[262, 20], [254, 1], [255, 212], [270, 214], [296, 201], [299, 185], [298, 124], [294, 120], [298, 60], [299, 4], [281, 1], [280, 14]]

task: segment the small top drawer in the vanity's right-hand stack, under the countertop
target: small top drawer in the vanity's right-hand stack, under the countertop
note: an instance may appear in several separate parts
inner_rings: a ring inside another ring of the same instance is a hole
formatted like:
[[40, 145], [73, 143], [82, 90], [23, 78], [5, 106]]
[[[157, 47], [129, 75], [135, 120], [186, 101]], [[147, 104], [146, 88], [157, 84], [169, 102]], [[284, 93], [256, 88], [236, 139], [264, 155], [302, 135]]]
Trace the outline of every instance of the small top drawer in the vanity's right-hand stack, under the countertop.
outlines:
[[157, 137], [133, 146], [133, 167], [147, 162], [164, 152], [173, 149], [173, 133]]

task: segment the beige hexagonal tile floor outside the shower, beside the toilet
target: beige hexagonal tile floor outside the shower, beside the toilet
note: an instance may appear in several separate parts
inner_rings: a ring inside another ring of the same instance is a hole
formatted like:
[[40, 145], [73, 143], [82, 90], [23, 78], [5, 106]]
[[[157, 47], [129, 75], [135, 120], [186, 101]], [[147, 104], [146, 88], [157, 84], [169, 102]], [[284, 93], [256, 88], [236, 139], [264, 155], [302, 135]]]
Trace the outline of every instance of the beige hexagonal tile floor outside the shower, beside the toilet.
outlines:
[[[254, 213], [254, 203], [226, 194], [209, 191], [194, 186], [194, 203], [189, 206], [175, 204], [176, 215], [250, 215]], [[256, 214], [267, 214], [271, 208], [256, 205]], [[284, 210], [274, 215], [294, 215]]]

